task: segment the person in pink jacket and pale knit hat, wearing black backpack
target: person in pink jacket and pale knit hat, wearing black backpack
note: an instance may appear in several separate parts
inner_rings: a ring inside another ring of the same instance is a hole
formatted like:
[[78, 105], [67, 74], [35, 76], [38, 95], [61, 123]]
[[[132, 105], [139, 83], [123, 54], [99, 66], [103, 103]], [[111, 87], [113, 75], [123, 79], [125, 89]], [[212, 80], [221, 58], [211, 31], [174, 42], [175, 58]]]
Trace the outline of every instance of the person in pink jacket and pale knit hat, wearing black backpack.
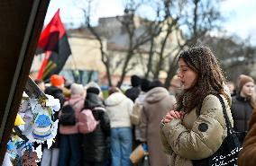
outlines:
[[[65, 101], [64, 106], [70, 105], [74, 111], [76, 119], [78, 119], [79, 112], [84, 108], [85, 96], [84, 86], [78, 83], [72, 83], [70, 86], [70, 99]], [[62, 110], [59, 111], [59, 118]], [[64, 126], [60, 123], [59, 133], [59, 165], [82, 165], [81, 142], [82, 137], [78, 131], [77, 122], [73, 126]], [[68, 157], [69, 156], [69, 157]]]

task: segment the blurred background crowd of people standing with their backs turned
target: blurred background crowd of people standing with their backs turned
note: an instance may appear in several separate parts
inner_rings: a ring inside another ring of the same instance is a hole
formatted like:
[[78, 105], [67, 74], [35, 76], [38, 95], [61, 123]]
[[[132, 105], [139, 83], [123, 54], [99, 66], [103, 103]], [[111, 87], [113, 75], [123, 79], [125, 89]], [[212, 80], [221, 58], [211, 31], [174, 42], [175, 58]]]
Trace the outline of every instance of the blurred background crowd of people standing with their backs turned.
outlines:
[[[97, 83], [65, 85], [65, 79], [58, 74], [50, 76], [49, 87], [41, 80], [35, 83], [41, 91], [59, 99], [61, 108], [71, 105], [77, 119], [79, 112], [90, 109], [98, 121], [96, 129], [88, 134], [79, 132], [78, 121], [72, 126], [59, 123], [55, 144], [50, 149], [43, 148], [41, 166], [129, 166], [133, 165], [130, 154], [142, 143], [148, 145], [151, 165], [167, 164], [167, 156], [161, 151], [159, 124], [166, 112], [174, 108], [175, 97], [160, 81], [133, 75], [132, 88], [123, 93], [111, 87], [106, 99]], [[142, 106], [136, 125], [130, 118], [134, 105]], [[62, 109], [55, 118], [61, 114]]]

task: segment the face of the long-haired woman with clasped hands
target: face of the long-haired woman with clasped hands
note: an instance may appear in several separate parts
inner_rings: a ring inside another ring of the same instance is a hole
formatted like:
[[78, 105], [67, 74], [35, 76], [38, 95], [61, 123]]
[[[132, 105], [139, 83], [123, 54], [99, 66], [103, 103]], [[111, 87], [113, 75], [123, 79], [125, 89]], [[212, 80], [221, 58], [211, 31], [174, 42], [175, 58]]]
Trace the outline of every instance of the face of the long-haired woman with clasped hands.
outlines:
[[191, 88], [197, 82], [197, 73], [187, 66], [183, 58], [178, 60], [178, 78], [185, 90]]

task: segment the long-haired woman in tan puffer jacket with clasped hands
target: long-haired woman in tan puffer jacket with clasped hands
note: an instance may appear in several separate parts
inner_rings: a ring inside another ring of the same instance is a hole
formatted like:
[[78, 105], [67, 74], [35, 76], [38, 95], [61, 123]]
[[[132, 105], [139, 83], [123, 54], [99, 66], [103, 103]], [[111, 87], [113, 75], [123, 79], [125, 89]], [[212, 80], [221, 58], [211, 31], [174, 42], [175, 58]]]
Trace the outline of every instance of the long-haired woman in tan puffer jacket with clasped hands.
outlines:
[[222, 104], [224, 99], [228, 118], [231, 97], [225, 90], [224, 74], [212, 51], [206, 47], [189, 48], [178, 57], [178, 77], [183, 92], [177, 108], [169, 110], [160, 123], [160, 135], [169, 166], [192, 166], [192, 160], [214, 154], [224, 141], [227, 129]]

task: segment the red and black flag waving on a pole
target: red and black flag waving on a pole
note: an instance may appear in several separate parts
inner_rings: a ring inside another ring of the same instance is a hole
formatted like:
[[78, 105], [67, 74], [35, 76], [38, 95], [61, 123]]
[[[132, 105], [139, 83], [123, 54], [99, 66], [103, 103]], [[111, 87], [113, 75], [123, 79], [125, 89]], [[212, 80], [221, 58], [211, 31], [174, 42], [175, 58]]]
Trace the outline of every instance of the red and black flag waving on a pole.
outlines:
[[37, 53], [43, 52], [45, 57], [38, 79], [47, 80], [51, 74], [59, 74], [71, 54], [67, 34], [59, 18], [59, 9], [41, 32]]

